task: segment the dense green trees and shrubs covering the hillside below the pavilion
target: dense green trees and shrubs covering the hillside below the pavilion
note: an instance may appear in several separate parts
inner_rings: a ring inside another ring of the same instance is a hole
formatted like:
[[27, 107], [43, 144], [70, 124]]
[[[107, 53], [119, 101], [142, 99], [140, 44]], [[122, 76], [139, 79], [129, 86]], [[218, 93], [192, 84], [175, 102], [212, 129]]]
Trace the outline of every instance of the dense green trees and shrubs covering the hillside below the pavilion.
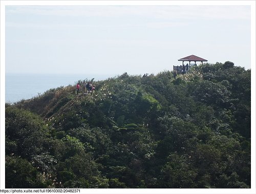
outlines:
[[93, 84], [6, 104], [6, 188], [250, 188], [250, 69]]

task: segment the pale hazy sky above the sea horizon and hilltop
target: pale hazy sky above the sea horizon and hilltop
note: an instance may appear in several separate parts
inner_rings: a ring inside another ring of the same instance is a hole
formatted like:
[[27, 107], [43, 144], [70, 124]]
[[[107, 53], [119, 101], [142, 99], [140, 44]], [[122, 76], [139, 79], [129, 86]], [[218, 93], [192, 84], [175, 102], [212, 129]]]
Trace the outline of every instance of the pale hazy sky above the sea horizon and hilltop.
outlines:
[[6, 6], [6, 72], [157, 74], [196, 55], [251, 68], [250, 6]]

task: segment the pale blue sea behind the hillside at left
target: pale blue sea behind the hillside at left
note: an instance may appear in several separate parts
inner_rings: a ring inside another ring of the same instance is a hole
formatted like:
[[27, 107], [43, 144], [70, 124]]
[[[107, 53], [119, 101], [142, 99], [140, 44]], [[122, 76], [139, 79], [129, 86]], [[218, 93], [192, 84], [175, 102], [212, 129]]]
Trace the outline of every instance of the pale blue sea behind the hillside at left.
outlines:
[[76, 74], [6, 74], [5, 102], [15, 103], [31, 99], [51, 88], [75, 85], [79, 80], [100, 81], [115, 75], [76, 75]]

